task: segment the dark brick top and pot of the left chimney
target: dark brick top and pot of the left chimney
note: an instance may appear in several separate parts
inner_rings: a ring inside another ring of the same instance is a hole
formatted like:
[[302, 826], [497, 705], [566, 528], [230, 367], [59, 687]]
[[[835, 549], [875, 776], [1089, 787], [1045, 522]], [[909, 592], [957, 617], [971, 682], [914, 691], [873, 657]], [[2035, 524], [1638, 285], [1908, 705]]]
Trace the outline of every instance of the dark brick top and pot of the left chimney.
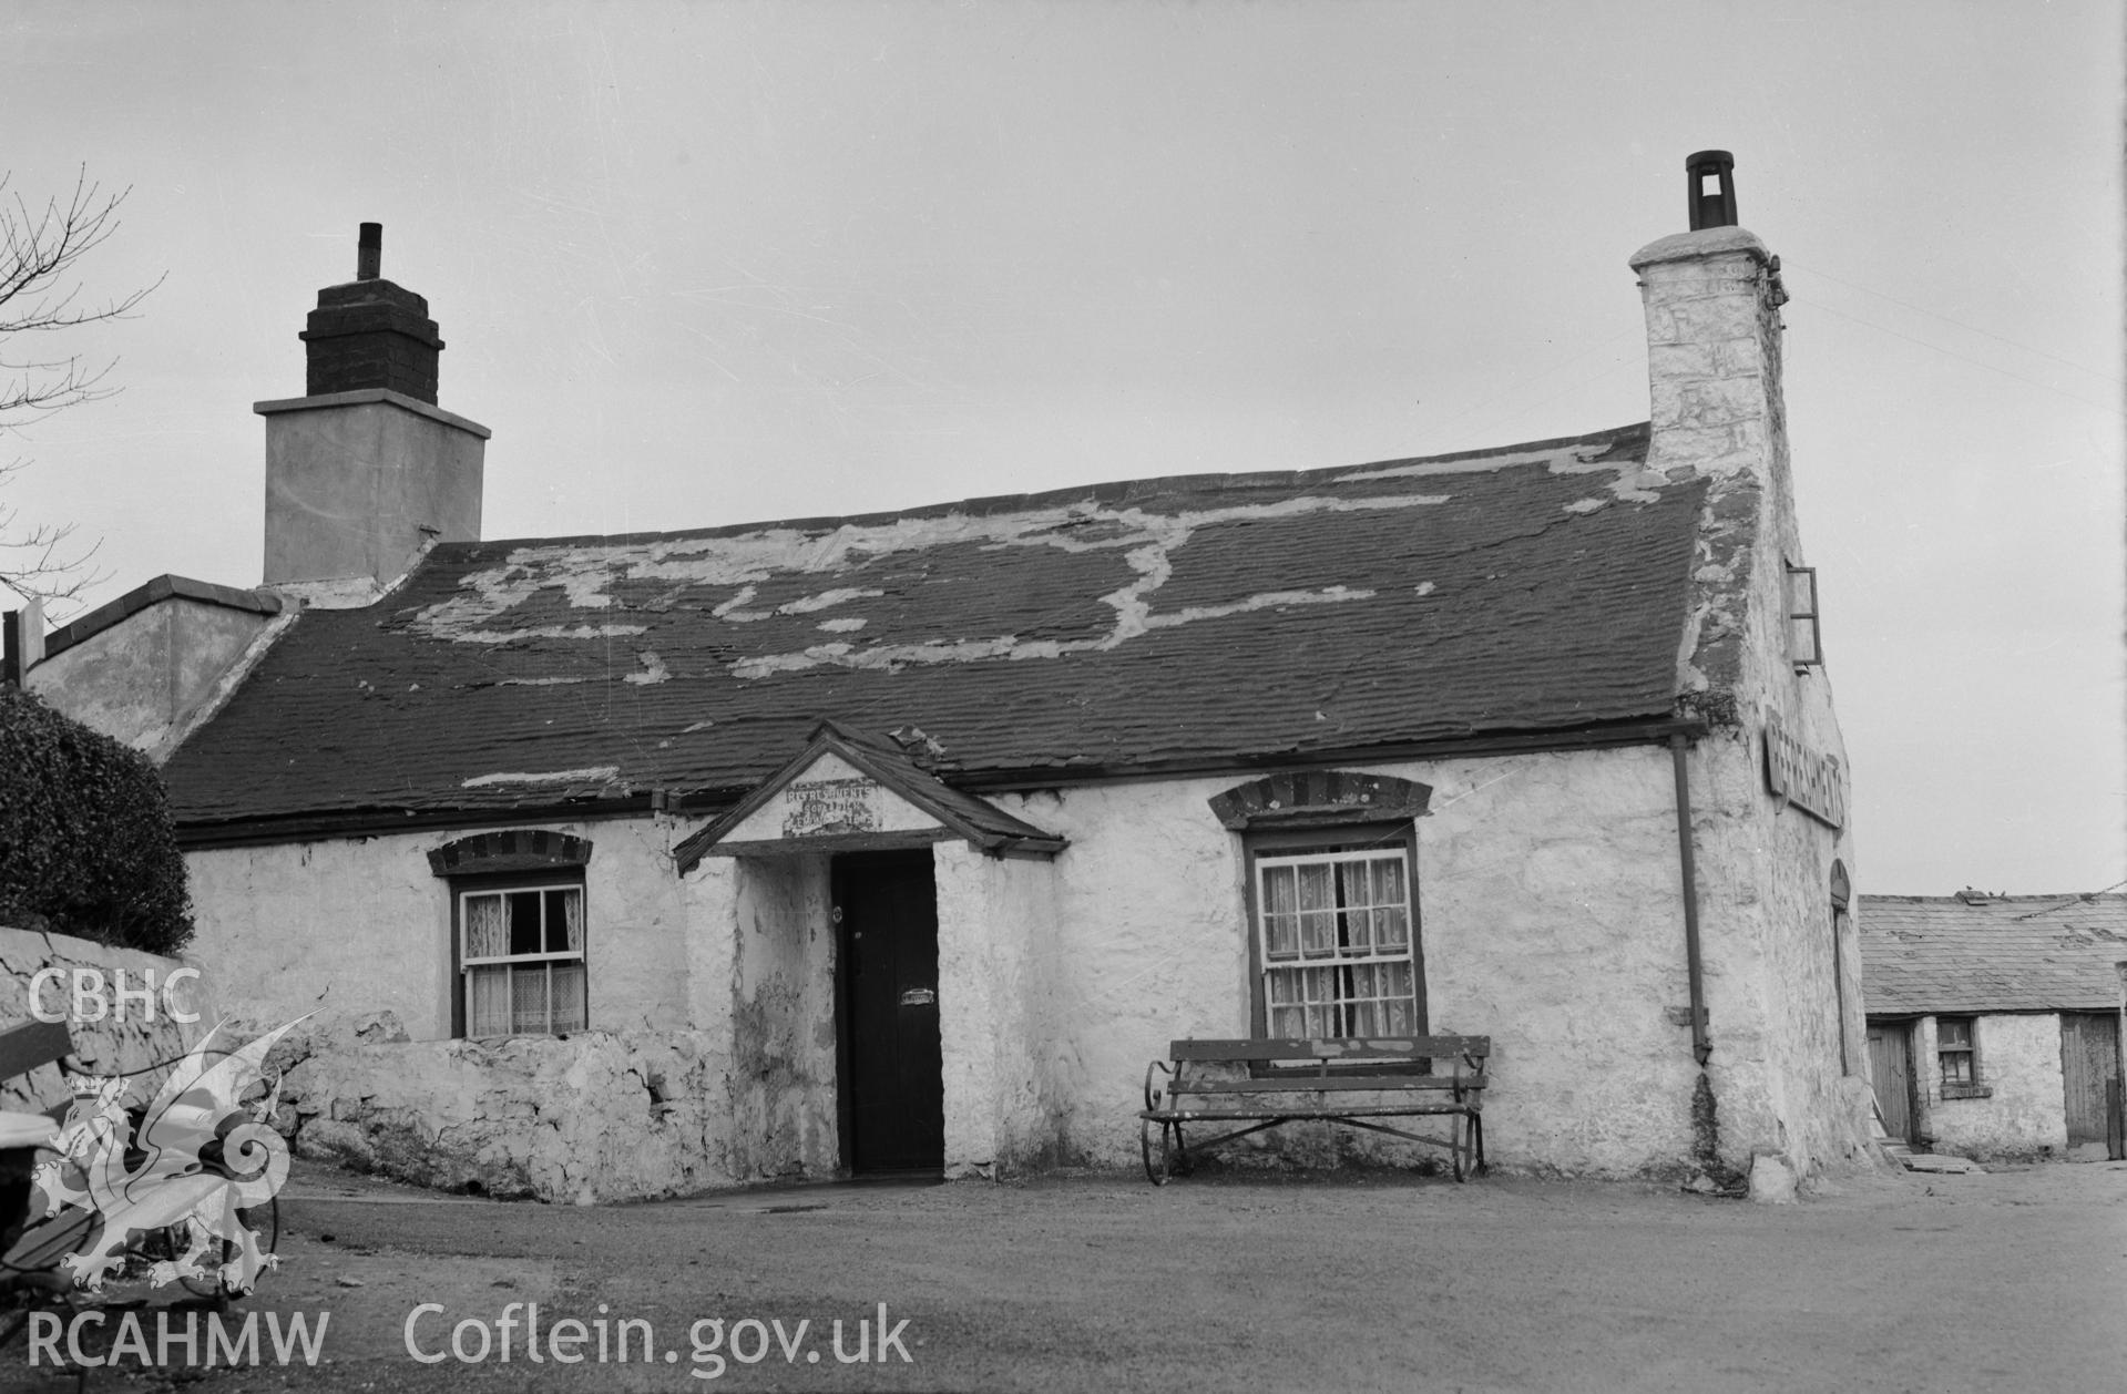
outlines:
[[383, 278], [383, 223], [364, 223], [355, 278], [317, 293], [311, 327], [300, 336], [308, 344], [308, 395], [385, 387], [436, 402], [442, 338], [428, 300]]

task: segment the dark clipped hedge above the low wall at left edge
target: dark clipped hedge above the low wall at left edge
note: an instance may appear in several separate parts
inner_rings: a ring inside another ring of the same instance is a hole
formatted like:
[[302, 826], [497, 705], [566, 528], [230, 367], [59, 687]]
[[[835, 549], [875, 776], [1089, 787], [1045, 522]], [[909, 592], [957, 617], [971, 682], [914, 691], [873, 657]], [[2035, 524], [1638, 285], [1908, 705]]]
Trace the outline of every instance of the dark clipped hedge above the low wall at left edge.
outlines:
[[151, 954], [191, 939], [155, 765], [15, 686], [0, 686], [0, 924]]

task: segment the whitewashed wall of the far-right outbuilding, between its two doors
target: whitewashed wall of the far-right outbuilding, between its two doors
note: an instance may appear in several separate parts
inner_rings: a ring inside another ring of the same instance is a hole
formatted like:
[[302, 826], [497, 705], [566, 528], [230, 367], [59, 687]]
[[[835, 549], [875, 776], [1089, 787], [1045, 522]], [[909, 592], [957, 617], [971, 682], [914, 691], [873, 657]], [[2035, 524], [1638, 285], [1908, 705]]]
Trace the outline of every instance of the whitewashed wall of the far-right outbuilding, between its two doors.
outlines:
[[2067, 1150], [2061, 1018], [2050, 1012], [1982, 1016], [1974, 1022], [1984, 1099], [1944, 1099], [1936, 1018], [1914, 1031], [1921, 1133], [1931, 1150], [1976, 1160], [2036, 1158]]

